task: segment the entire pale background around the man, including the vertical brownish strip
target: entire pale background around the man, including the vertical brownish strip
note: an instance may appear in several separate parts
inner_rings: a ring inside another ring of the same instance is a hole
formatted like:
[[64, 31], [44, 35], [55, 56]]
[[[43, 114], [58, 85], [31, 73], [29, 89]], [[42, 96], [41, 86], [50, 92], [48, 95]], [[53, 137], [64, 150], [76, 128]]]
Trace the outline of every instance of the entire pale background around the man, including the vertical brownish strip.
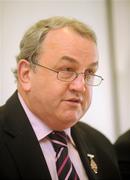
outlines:
[[0, 105], [16, 89], [11, 71], [25, 30], [40, 19], [58, 15], [78, 18], [97, 35], [98, 74], [104, 82], [94, 87], [93, 102], [81, 120], [114, 142], [130, 127], [129, 0], [0, 0]]

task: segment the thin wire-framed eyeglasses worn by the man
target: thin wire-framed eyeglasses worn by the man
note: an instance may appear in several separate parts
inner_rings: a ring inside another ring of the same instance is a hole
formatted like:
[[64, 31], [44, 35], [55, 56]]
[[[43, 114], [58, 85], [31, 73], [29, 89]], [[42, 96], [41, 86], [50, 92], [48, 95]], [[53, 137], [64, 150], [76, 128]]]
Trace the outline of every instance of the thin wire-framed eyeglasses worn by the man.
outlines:
[[84, 75], [85, 83], [90, 86], [98, 86], [104, 80], [101, 76], [93, 74], [93, 73], [88, 73], [88, 72], [87, 73], [83, 73], [83, 72], [77, 73], [74, 71], [67, 71], [67, 70], [66, 71], [65, 70], [57, 71], [52, 68], [35, 63], [35, 62], [32, 62], [32, 64], [57, 73], [57, 79], [60, 81], [64, 81], [64, 82], [71, 82], [71, 81], [75, 80], [80, 74]]

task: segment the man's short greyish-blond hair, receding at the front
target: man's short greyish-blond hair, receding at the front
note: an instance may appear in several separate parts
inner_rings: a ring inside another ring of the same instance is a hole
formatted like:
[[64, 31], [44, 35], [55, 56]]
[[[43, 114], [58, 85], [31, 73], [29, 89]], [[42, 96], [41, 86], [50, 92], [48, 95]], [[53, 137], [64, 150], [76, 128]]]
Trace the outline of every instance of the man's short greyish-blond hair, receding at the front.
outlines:
[[[39, 55], [40, 47], [47, 33], [53, 29], [69, 27], [77, 32], [82, 37], [91, 39], [97, 44], [94, 31], [83, 22], [67, 17], [50, 17], [43, 19], [32, 25], [24, 34], [20, 42], [20, 52], [16, 56], [17, 63], [21, 59], [26, 59], [29, 62], [36, 62]], [[14, 75], [17, 79], [17, 69], [14, 70]]]

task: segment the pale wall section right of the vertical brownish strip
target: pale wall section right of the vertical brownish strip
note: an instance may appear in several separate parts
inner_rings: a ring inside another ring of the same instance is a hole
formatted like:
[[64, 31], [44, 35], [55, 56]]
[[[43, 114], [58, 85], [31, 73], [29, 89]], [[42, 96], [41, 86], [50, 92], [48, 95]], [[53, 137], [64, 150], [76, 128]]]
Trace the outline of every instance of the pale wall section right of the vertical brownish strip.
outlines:
[[130, 1], [113, 1], [120, 134], [130, 129]]

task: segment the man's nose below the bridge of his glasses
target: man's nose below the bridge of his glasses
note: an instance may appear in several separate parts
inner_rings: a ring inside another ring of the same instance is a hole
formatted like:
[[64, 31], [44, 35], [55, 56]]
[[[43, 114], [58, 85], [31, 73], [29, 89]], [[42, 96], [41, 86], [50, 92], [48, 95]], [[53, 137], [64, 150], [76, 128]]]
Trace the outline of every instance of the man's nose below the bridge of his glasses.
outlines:
[[83, 74], [79, 74], [78, 77], [70, 83], [70, 89], [79, 92], [84, 92], [86, 90], [86, 83]]

